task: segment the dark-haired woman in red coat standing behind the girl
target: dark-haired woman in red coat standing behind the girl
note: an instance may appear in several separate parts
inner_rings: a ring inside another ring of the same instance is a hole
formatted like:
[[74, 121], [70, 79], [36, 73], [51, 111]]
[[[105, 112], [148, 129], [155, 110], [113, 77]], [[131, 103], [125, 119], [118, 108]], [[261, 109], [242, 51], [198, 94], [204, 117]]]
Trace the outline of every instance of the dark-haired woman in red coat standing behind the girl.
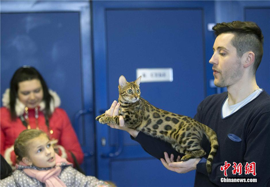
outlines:
[[16, 70], [10, 88], [3, 94], [1, 107], [1, 155], [10, 165], [15, 165], [13, 144], [25, 129], [46, 132], [56, 152], [69, 162], [75, 156], [79, 164], [83, 152], [66, 112], [58, 108], [60, 98], [49, 90], [41, 74], [33, 67]]

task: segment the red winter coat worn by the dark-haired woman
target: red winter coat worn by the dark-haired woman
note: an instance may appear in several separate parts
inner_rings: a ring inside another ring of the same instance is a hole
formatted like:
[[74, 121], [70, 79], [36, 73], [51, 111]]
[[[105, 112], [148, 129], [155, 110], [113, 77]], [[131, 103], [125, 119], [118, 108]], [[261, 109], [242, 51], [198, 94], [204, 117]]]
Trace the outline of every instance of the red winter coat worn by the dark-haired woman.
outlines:
[[[19, 133], [27, 129], [20, 120], [19, 117], [16, 120], [11, 120], [10, 111], [6, 107], [1, 107], [1, 155], [6, 156], [5, 159], [8, 161], [7, 155], [4, 154], [6, 149], [13, 146], [15, 139]], [[29, 109], [29, 124], [31, 129], [36, 128], [35, 122], [35, 109]], [[49, 118], [50, 130], [53, 130], [52, 134], [48, 133], [48, 128], [45, 123], [45, 117], [43, 112], [39, 111], [38, 126], [40, 130], [46, 132], [51, 139], [57, 139], [58, 145], [64, 147], [67, 154], [67, 160], [74, 163], [70, 151], [74, 154], [79, 164], [83, 162], [83, 152], [80, 147], [76, 133], [70, 123], [70, 120], [66, 112], [61, 108], [55, 108], [52, 116]], [[61, 155], [61, 153], [60, 153]], [[8, 156], [9, 157], [9, 156]], [[10, 156], [13, 165], [15, 165], [16, 156], [14, 151], [11, 152]]]

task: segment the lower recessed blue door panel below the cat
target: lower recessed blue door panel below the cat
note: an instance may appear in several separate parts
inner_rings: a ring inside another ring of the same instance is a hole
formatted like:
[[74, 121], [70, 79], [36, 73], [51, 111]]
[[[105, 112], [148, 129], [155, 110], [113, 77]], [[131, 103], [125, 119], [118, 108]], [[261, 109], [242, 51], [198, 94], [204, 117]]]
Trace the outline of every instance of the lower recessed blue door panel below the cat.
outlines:
[[158, 159], [116, 160], [111, 167], [114, 171], [111, 178], [117, 181], [118, 186], [193, 186], [195, 173], [177, 174], [168, 171]]

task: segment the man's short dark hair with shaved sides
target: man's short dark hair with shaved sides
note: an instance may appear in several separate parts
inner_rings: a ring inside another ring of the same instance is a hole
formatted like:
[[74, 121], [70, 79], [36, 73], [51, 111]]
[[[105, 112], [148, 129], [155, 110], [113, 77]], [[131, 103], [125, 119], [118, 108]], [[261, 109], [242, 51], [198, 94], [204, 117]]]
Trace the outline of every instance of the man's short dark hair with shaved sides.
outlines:
[[229, 23], [217, 23], [212, 29], [215, 31], [216, 36], [222, 33], [234, 34], [231, 43], [236, 48], [238, 57], [241, 57], [248, 51], [252, 51], [255, 54], [255, 74], [261, 63], [263, 54], [263, 35], [259, 26], [254, 22], [233, 21]]

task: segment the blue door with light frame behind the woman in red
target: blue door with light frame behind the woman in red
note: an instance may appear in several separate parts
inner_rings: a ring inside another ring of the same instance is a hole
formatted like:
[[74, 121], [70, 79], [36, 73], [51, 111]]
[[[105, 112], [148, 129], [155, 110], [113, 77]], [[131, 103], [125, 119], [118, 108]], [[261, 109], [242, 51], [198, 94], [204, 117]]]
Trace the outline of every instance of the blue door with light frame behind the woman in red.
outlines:
[[82, 168], [95, 175], [90, 36], [88, 1], [1, 1], [1, 96], [17, 68], [36, 67], [76, 130]]

